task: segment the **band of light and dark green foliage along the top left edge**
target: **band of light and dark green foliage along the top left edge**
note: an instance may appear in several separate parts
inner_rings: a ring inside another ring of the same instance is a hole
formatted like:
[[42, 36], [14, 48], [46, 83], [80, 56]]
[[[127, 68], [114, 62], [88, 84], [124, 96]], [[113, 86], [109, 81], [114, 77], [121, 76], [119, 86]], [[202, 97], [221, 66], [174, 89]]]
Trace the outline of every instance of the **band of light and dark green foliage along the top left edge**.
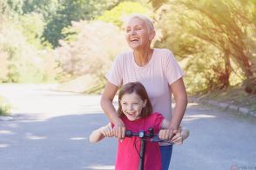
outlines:
[[[71, 21], [91, 20], [118, 3], [118, 0], [3, 0], [0, 3], [0, 9], [7, 16], [21, 16], [25, 23], [29, 23], [27, 21], [29, 18], [32, 19], [31, 23], [37, 23], [37, 20], [34, 20], [36, 16], [34, 14], [39, 15], [41, 18], [37, 19], [39, 22], [43, 21], [45, 27], [43, 37], [41, 35], [37, 38], [57, 47], [58, 40], [64, 38], [62, 29], [71, 25]], [[41, 25], [41, 23], [38, 24], [38, 26]]]

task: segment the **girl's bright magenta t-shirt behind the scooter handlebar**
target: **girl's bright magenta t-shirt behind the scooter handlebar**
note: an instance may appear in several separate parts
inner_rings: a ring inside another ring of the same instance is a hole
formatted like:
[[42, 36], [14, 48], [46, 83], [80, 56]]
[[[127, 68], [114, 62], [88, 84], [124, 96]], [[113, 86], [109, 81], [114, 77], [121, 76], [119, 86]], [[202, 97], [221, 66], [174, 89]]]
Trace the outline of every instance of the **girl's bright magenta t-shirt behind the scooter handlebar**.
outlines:
[[[158, 134], [164, 116], [154, 113], [146, 118], [129, 121], [125, 116], [122, 120], [126, 130], [138, 133], [140, 130], [148, 133], [148, 128], [153, 127], [154, 133]], [[138, 136], [125, 137], [118, 141], [118, 153], [116, 159], [116, 170], [138, 170], [139, 165], [140, 138]], [[145, 169], [161, 170], [161, 154], [158, 142], [145, 141]]]

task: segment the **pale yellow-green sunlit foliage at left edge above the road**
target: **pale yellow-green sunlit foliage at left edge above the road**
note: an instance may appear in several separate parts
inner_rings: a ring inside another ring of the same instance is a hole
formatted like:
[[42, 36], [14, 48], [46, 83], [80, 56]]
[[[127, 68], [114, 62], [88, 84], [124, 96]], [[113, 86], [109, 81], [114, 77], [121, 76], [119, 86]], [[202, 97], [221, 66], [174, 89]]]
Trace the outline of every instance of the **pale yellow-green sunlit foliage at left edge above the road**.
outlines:
[[46, 74], [55, 70], [56, 66], [47, 63], [52, 66], [47, 68], [45, 62], [55, 61], [52, 57], [50, 60], [45, 50], [31, 45], [22, 31], [5, 21], [0, 29], [0, 82], [53, 81], [54, 79], [49, 80], [49, 77], [53, 76]]

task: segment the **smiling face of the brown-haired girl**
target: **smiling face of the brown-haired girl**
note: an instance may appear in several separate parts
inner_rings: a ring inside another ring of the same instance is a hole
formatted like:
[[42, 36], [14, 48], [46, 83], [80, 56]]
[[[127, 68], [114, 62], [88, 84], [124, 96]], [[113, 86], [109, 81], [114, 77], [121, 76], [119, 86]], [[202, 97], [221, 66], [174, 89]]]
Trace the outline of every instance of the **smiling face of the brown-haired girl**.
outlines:
[[123, 95], [121, 101], [122, 111], [130, 121], [135, 121], [140, 117], [142, 108], [145, 108], [146, 101], [141, 100], [136, 93]]

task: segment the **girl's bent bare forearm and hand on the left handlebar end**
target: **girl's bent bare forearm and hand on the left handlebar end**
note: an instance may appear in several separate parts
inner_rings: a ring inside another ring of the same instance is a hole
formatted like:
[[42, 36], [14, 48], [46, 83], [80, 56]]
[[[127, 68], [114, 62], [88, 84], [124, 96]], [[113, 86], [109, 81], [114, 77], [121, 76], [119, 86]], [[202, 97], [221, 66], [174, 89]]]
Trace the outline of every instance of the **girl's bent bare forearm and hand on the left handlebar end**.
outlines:
[[98, 129], [91, 132], [89, 141], [91, 143], [96, 143], [104, 139], [104, 137], [112, 137], [112, 127], [111, 123], [108, 123], [104, 127], [99, 127]]

